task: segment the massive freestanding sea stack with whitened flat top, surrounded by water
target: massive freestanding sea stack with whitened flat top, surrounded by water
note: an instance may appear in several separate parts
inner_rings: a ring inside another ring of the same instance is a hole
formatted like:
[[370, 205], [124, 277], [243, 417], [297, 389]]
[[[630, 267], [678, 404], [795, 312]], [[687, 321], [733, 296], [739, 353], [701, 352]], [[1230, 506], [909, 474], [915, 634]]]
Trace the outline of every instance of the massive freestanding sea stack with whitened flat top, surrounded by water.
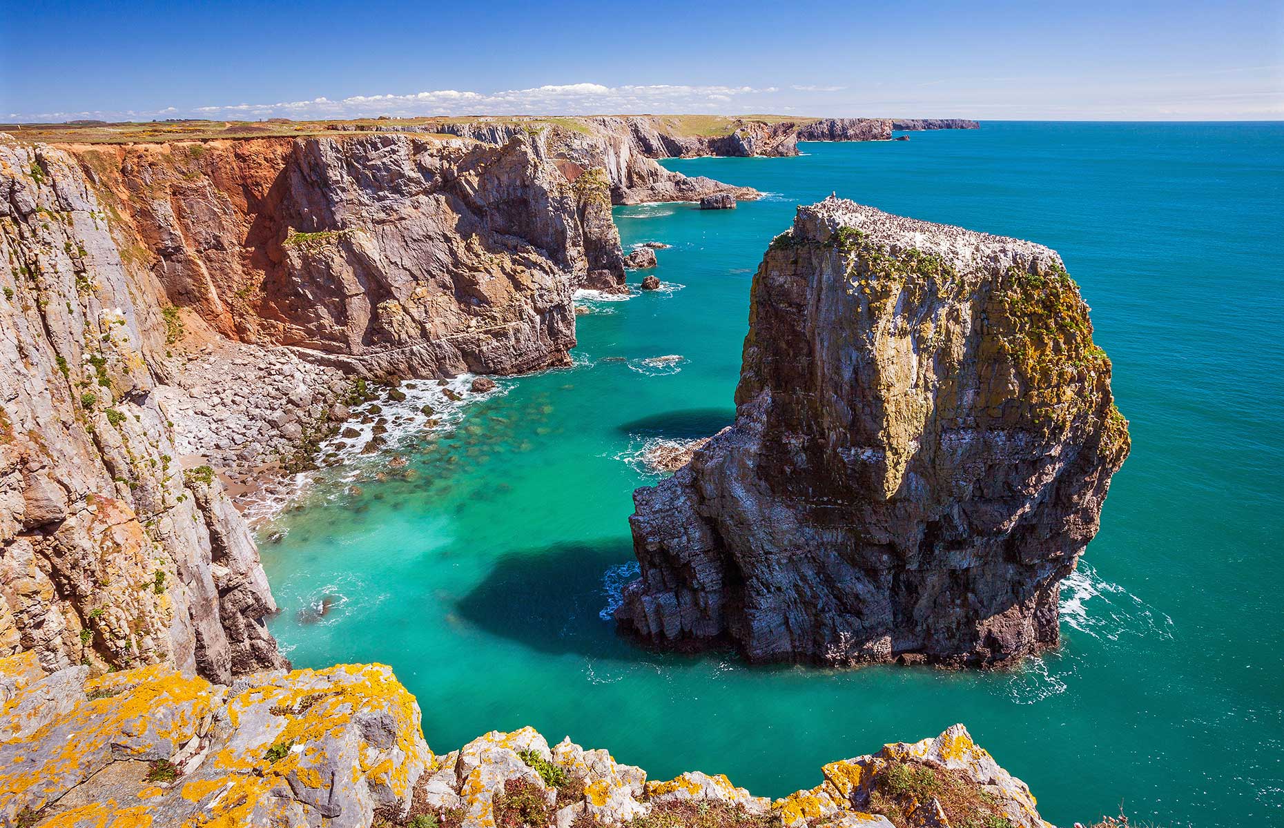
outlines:
[[996, 665], [1129, 451], [1059, 257], [828, 199], [754, 279], [733, 426], [634, 494], [621, 625], [755, 661]]

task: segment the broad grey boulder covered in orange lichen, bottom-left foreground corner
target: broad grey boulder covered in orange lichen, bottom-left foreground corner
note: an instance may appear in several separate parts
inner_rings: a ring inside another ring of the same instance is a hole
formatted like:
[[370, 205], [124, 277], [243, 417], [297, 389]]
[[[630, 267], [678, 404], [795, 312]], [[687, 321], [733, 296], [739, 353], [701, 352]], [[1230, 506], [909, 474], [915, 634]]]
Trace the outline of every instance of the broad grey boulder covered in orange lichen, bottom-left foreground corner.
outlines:
[[[262, 673], [231, 687], [153, 665], [86, 680], [0, 659], [0, 822], [366, 828], [406, 814], [433, 764], [383, 665]], [[135, 824], [135, 823], [130, 823]]]

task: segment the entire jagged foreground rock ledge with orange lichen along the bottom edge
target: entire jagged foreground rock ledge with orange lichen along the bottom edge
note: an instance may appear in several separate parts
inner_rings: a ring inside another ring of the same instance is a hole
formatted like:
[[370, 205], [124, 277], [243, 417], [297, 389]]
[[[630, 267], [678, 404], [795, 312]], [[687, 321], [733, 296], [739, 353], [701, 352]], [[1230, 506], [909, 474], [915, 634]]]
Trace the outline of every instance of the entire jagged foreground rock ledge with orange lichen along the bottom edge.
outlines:
[[[1043, 828], [1035, 798], [967, 729], [826, 765], [769, 800], [724, 775], [641, 768], [532, 728], [434, 754], [383, 665], [229, 686], [160, 665], [87, 679], [0, 659], [0, 822], [23, 828]], [[420, 818], [419, 822], [415, 822]], [[707, 822], [707, 819], [706, 819]]]

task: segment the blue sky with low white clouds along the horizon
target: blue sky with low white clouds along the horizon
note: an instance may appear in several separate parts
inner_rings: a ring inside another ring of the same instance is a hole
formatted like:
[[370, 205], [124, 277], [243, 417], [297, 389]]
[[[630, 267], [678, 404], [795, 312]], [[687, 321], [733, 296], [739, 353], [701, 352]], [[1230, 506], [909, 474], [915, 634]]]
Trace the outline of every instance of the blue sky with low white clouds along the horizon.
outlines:
[[3, 0], [0, 119], [1284, 118], [1284, 0]]

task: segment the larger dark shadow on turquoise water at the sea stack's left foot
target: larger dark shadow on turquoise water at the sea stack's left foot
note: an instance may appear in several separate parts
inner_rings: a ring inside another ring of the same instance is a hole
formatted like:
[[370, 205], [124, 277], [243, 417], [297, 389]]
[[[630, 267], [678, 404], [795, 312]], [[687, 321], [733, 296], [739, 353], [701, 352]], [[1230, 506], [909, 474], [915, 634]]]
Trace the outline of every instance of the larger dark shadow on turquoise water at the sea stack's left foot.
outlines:
[[[628, 539], [560, 543], [502, 557], [456, 610], [476, 628], [532, 650], [654, 664], [722, 657], [655, 652], [615, 632], [603, 620], [607, 570], [636, 561]], [[621, 578], [632, 580], [636, 575]]]

